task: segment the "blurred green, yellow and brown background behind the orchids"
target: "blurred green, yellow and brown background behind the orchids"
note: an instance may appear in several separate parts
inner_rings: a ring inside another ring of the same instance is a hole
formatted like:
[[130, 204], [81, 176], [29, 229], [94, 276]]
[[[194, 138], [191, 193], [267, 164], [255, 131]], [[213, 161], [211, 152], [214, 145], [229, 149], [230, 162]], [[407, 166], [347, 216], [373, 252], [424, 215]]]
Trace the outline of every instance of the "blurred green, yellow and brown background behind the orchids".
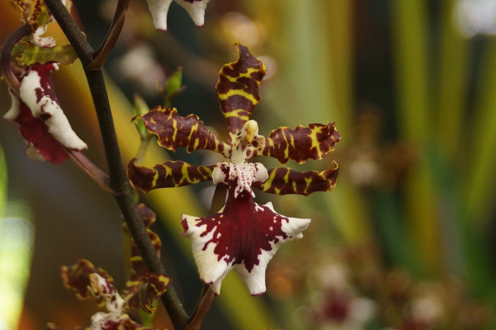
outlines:
[[[116, 2], [73, 1], [73, 16], [94, 48]], [[302, 240], [269, 264], [265, 295], [250, 297], [230, 274], [202, 329], [495, 328], [495, 8], [494, 0], [212, 0], [198, 29], [173, 2], [169, 30], [156, 32], [145, 1], [131, 1], [105, 66], [124, 164], [139, 148], [129, 122], [134, 93], [150, 106], [161, 104], [158, 81], [177, 66], [187, 88], [173, 106], [183, 116], [198, 115], [227, 139], [214, 87], [221, 66], [237, 59], [236, 41], [267, 65], [262, 101], [252, 116], [261, 134], [335, 121], [342, 135], [324, 160], [288, 164], [321, 171], [336, 160], [340, 174], [331, 193], [257, 193], [259, 202], [272, 200], [281, 213], [313, 221]], [[7, 0], [0, 9], [3, 42], [19, 16]], [[49, 34], [66, 43], [58, 27]], [[62, 66], [53, 78], [66, 116], [89, 146], [86, 155], [105, 169], [80, 63]], [[3, 82], [1, 87], [4, 114], [10, 99]], [[11, 252], [0, 243], [0, 292], [22, 288], [29, 276], [22, 314], [18, 304], [0, 329], [15, 327], [19, 314], [18, 329], [47, 322], [88, 325], [97, 309], [63, 288], [60, 266], [85, 258], [124, 285], [117, 205], [70, 161], [55, 166], [28, 159], [17, 127], [0, 125], [8, 173], [3, 204], [0, 164], [0, 217], [2, 224], [24, 219], [21, 236], [28, 237]], [[143, 165], [166, 159], [219, 161], [208, 152], [171, 153], [151, 143]], [[208, 214], [212, 194], [213, 186], [202, 183], [142, 196], [157, 213], [162, 259], [188, 312], [202, 283], [189, 243], [179, 235], [180, 215]], [[0, 224], [0, 237], [7, 237], [5, 228]], [[14, 260], [24, 266], [7, 278], [16, 252]], [[16, 292], [22, 299], [23, 291]], [[5, 297], [0, 294], [0, 306]], [[154, 326], [173, 329], [162, 307]]]

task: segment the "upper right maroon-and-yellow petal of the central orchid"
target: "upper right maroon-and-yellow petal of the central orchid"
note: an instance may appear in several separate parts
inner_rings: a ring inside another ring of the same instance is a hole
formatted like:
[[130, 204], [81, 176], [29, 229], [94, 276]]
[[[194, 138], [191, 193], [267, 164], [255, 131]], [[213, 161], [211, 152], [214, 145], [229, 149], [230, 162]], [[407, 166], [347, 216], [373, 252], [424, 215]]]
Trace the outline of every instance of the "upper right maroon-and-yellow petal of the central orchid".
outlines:
[[253, 148], [250, 156], [271, 156], [281, 164], [291, 159], [305, 163], [309, 158], [324, 158], [327, 152], [334, 150], [334, 144], [340, 138], [334, 123], [310, 124], [307, 127], [298, 125], [294, 130], [280, 127], [270, 132], [264, 146]]

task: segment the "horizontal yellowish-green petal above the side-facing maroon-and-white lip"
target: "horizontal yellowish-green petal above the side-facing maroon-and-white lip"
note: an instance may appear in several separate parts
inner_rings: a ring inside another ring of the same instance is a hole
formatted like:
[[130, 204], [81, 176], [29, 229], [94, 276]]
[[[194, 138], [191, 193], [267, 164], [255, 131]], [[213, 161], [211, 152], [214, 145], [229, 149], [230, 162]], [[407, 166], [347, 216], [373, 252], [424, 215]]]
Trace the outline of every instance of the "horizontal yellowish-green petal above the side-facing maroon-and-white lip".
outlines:
[[32, 64], [61, 63], [72, 64], [77, 59], [76, 52], [71, 45], [38, 47], [31, 43], [25, 43], [26, 48], [21, 55], [17, 56], [19, 66], [30, 66]]

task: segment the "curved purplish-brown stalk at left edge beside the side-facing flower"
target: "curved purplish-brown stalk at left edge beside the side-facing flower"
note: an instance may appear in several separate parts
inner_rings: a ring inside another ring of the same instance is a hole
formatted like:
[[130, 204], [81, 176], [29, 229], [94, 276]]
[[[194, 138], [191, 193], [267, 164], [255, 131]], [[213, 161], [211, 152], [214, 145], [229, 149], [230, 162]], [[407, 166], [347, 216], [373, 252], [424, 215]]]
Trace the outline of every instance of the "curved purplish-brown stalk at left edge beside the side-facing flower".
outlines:
[[5, 78], [5, 82], [7, 83], [8, 87], [17, 96], [19, 96], [19, 87], [21, 86], [21, 83], [19, 82], [19, 79], [17, 79], [17, 76], [14, 74], [10, 66], [10, 52], [19, 40], [30, 33], [31, 26], [29, 24], [24, 24], [18, 27], [7, 37], [1, 48], [0, 70], [3, 77]]

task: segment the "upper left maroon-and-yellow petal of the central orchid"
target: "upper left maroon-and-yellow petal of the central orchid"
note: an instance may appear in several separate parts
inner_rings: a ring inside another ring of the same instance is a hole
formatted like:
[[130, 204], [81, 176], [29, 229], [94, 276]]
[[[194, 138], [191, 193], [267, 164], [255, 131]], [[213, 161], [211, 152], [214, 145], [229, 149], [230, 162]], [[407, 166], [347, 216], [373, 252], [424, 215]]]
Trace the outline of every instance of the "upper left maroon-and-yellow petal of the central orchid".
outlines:
[[188, 152], [209, 149], [229, 156], [230, 146], [205, 128], [196, 115], [182, 117], [176, 108], [157, 106], [138, 117], [141, 117], [148, 132], [158, 136], [157, 143], [164, 148], [176, 151], [179, 147], [185, 147]]

